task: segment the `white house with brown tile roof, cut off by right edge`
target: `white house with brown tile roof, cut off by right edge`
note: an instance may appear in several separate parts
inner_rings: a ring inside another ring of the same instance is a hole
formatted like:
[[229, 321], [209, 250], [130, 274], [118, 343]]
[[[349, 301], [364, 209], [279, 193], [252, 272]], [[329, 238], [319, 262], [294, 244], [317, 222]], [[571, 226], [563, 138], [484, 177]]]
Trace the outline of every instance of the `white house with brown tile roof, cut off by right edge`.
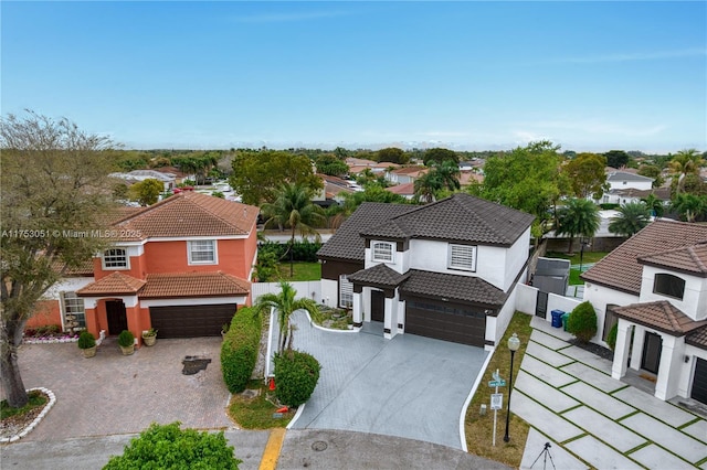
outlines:
[[707, 225], [655, 221], [582, 279], [595, 341], [618, 324], [612, 376], [633, 372], [657, 398], [707, 404]]

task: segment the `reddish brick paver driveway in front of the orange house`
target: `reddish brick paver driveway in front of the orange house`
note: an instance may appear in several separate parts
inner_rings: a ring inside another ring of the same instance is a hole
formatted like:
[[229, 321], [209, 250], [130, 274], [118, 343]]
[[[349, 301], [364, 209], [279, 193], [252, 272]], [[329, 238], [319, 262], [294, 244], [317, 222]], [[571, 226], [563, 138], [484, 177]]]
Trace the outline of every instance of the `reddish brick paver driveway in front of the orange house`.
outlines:
[[[24, 440], [139, 432], [151, 423], [184, 427], [235, 427], [225, 415], [229, 391], [221, 376], [221, 338], [158, 339], [124, 356], [114, 339], [95, 357], [76, 343], [24, 344], [19, 362], [28, 388], [43, 386], [56, 404]], [[205, 371], [182, 374], [187, 355], [211, 359]]]

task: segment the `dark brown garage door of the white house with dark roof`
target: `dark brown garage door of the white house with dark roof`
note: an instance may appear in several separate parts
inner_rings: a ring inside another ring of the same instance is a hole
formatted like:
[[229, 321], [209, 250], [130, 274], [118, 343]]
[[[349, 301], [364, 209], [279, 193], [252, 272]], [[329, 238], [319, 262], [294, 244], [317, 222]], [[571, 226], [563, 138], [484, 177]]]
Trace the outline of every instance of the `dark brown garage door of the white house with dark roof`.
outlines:
[[484, 346], [486, 316], [469, 306], [426, 299], [405, 305], [405, 333]]

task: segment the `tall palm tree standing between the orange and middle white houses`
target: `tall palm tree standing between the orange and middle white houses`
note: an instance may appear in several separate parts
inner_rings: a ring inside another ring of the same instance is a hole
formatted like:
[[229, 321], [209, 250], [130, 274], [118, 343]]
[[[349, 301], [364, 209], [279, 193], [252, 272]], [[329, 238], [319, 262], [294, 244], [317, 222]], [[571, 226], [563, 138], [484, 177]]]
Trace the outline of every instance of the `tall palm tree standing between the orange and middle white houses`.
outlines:
[[326, 222], [324, 210], [312, 203], [312, 193], [304, 185], [285, 183], [277, 191], [275, 202], [263, 204], [262, 211], [266, 217], [265, 227], [277, 224], [281, 229], [283, 227], [292, 229], [288, 252], [289, 277], [293, 277], [295, 234], [299, 232], [303, 237], [314, 235], [319, 242], [321, 237], [314, 225]]

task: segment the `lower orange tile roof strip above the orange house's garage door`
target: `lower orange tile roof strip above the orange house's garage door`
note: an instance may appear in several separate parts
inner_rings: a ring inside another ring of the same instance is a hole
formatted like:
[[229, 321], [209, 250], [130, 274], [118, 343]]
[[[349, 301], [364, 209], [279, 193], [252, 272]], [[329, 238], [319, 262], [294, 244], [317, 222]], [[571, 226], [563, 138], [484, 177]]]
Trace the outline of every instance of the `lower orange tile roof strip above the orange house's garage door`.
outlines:
[[247, 296], [251, 282], [224, 273], [147, 275], [141, 299]]

